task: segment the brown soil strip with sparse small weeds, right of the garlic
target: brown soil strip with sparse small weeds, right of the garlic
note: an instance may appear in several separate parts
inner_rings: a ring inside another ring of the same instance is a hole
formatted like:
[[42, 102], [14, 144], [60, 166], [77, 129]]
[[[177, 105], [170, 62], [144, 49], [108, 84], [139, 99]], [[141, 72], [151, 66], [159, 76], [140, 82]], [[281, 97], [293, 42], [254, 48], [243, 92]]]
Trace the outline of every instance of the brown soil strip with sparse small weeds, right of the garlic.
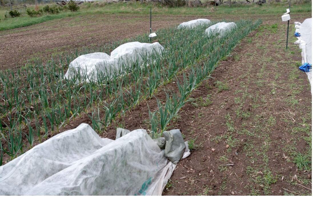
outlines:
[[164, 194], [311, 195], [310, 83], [285, 28], [244, 38], [178, 114], [193, 150]]

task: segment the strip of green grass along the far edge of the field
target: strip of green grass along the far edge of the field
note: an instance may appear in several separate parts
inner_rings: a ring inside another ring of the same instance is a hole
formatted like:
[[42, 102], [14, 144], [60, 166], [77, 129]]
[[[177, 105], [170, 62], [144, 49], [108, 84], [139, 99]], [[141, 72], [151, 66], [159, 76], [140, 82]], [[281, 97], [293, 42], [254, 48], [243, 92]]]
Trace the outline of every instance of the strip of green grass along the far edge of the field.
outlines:
[[[44, 5], [40, 5], [39, 8]], [[138, 14], [147, 15], [149, 13], [151, 4], [144, 3], [141, 5], [140, 2], [131, 3], [83, 3], [80, 6], [80, 10], [77, 12], [60, 12], [59, 14], [43, 15], [41, 17], [29, 17], [26, 13], [21, 17], [17, 18], [4, 18], [4, 14], [7, 7], [0, 8], [0, 31], [26, 27], [33, 24], [43, 23], [46, 21], [61, 19], [67, 17], [75, 16], [87, 16], [87, 15], [97, 15], [97, 14]], [[33, 9], [34, 6], [30, 6]], [[229, 8], [228, 6], [218, 6], [218, 7], [179, 7], [179, 8], [167, 8], [162, 6], [153, 5], [152, 14], [162, 14], [162, 15], [232, 15], [245, 16], [251, 14], [281, 14], [286, 11], [286, 5], [284, 4], [266, 4], [263, 6], [257, 6], [255, 4], [251, 5], [237, 5]], [[311, 5], [309, 3], [292, 5], [292, 13], [310, 13]], [[244, 18], [244, 17], [243, 17]], [[272, 27], [271, 27], [272, 28]], [[274, 27], [275, 28], [275, 27]]]

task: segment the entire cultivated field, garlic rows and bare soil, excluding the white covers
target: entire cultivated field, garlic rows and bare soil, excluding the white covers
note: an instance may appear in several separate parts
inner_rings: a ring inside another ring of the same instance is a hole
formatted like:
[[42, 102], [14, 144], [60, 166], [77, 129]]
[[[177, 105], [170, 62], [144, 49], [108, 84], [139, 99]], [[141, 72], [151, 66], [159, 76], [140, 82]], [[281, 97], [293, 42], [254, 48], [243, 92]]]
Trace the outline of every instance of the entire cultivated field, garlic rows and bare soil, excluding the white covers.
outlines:
[[[149, 28], [148, 15], [100, 13], [0, 31], [0, 138], [8, 152], [2, 154], [3, 164], [31, 148], [29, 143], [34, 146], [82, 122], [110, 139], [115, 139], [117, 127], [143, 128], [156, 136], [178, 128], [191, 155], [178, 163], [164, 195], [311, 195], [310, 83], [298, 69], [301, 54], [293, 44], [294, 22], [310, 18], [310, 12], [292, 14], [286, 51], [287, 25], [281, 13], [170, 11], [153, 15], [152, 27], [158, 30], [154, 41], [169, 50], [156, 59], [162, 66], [135, 69], [124, 82], [114, 79], [122, 88], [92, 83], [74, 88], [72, 82], [56, 87], [59, 75], [79, 54], [109, 54], [121, 43], [147, 42], [142, 34]], [[181, 34], [175, 27], [196, 18], [234, 21], [238, 29], [204, 40], [199, 35], [205, 28], [197, 28], [186, 36], [192, 41], [183, 41], [188, 32]], [[185, 86], [192, 76], [197, 83]], [[139, 89], [141, 94], [136, 94]], [[114, 105], [127, 98], [125, 109]], [[170, 124], [163, 124], [160, 106], [165, 113], [166, 104], [175, 102], [177, 108], [168, 113]], [[59, 112], [63, 118], [52, 116], [61, 117]], [[18, 130], [23, 131], [22, 146]]]

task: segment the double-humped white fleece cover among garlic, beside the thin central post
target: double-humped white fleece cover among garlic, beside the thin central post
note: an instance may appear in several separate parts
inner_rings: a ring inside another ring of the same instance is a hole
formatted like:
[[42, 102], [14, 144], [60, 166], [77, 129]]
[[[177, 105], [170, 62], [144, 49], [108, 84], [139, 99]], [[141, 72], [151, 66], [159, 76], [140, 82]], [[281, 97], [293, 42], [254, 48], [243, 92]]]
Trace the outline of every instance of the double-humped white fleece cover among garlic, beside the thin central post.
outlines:
[[69, 69], [64, 77], [77, 78], [79, 73], [81, 78], [86, 79], [87, 82], [97, 80], [100, 72], [102, 75], [121, 73], [123, 67], [130, 67], [136, 61], [141, 63], [143, 57], [150, 59], [152, 55], [161, 55], [163, 49], [158, 42], [152, 44], [130, 42], [115, 48], [111, 52], [111, 56], [100, 52], [81, 55], [69, 64]]

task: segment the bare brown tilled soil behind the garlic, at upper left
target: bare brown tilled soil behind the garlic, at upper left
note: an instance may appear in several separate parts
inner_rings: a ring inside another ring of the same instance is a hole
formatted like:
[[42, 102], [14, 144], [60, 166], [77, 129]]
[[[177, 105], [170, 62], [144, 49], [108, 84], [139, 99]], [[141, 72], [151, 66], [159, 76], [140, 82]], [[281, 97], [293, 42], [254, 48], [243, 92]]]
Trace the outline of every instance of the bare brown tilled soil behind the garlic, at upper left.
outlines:
[[[194, 16], [154, 16], [153, 30], [194, 19]], [[43, 60], [60, 52], [101, 46], [149, 32], [149, 16], [92, 15], [65, 18], [0, 32], [1, 69], [19, 68], [28, 59]]]

